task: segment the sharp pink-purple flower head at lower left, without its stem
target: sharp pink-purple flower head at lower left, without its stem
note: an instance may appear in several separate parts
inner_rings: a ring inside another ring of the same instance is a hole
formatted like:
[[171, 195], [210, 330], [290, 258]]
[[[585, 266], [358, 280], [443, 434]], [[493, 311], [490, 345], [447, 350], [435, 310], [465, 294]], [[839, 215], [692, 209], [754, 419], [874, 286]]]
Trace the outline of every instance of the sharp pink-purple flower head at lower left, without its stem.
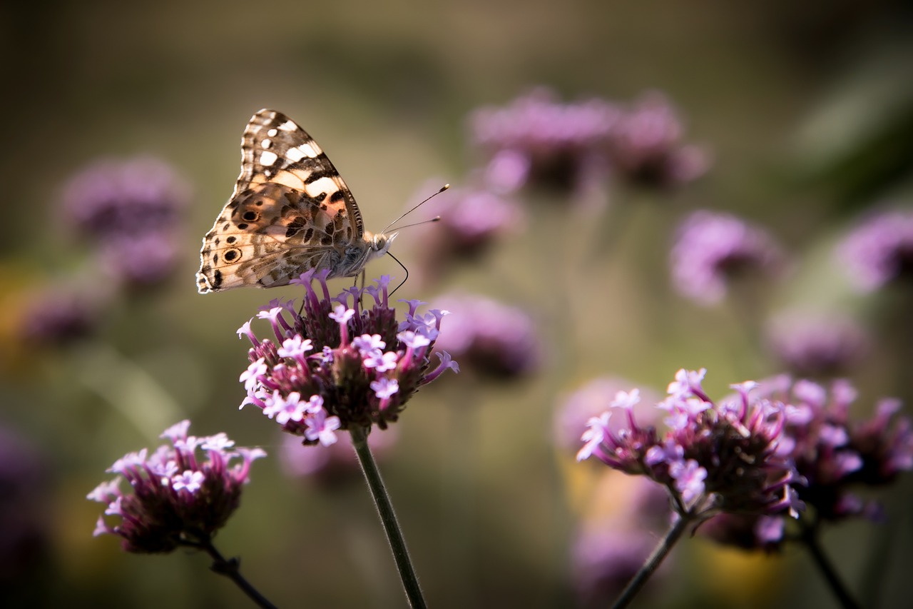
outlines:
[[[121, 537], [124, 550], [139, 553], [170, 552], [211, 539], [238, 506], [250, 465], [266, 456], [258, 448], [236, 448], [225, 433], [187, 435], [189, 421], [162, 434], [171, 441], [152, 454], [146, 449], [125, 454], [111, 465], [118, 477], [103, 482], [87, 498], [107, 506], [109, 524], [99, 517], [95, 535]], [[233, 464], [233, 462], [236, 462]], [[121, 490], [126, 480], [132, 493]]]

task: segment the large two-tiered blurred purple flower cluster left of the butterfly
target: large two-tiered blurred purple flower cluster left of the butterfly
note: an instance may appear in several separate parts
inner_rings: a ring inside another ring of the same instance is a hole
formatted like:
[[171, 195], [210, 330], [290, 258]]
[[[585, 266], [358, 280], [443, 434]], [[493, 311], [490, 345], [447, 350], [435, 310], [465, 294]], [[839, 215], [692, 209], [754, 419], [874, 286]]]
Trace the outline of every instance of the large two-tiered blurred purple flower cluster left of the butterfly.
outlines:
[[63, 210], [110, 274], [133, 286], [161, 283], [180, 259], [189, 189], [163, 161], [100, 161], [68, 182]]

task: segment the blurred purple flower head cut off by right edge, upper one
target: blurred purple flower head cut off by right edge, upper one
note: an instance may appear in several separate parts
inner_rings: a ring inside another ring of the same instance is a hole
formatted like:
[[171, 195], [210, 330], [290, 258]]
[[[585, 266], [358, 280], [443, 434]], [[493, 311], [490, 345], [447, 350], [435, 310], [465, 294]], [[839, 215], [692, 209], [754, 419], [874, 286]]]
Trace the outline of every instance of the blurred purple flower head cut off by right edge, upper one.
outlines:
[[839, 255], [855, 285], [866, 292], [913, 276], [913, 210], [885, 211], [862, 222]]

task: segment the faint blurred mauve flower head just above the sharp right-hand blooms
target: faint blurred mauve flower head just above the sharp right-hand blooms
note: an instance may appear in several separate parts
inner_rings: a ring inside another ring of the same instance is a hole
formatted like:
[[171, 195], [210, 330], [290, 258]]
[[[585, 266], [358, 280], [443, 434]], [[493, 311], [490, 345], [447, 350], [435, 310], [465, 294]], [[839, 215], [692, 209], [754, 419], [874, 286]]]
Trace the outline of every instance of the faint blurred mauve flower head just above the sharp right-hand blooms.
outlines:
[[800, 376], [835, 376], [866, 357], [869, 338], [849, 317], [792, 312], [774, 318], [768, 345], [783, 366]]

